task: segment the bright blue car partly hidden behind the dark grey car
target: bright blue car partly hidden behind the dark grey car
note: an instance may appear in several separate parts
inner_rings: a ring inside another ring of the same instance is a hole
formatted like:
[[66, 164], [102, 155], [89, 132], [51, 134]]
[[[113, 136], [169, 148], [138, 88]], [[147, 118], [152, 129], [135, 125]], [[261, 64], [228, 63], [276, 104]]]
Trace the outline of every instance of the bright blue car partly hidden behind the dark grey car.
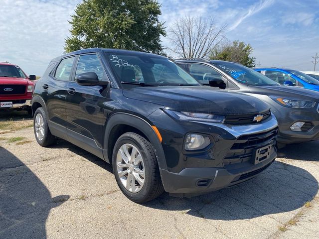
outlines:
[[303, 72], [275, 67], [258, 67], [253, 69], [281, 85], [304, 87], [319, 91], [319, 80]]

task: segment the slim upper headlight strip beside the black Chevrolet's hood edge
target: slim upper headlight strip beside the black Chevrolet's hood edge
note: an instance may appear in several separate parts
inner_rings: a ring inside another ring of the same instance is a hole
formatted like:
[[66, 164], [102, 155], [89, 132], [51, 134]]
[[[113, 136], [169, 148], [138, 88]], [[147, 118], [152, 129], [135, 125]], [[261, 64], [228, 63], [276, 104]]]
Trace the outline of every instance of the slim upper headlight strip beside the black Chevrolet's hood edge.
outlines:
[[204, 113], [191, 113], [191, 112], [178, 112], [165, 110], [165, 112], [171, 117], [179, 120], [192, 120], [192, 121], [205, 121], [205, 122], [214, 122], [222, 123], [225, 119], [224, 116], [217, 116]]

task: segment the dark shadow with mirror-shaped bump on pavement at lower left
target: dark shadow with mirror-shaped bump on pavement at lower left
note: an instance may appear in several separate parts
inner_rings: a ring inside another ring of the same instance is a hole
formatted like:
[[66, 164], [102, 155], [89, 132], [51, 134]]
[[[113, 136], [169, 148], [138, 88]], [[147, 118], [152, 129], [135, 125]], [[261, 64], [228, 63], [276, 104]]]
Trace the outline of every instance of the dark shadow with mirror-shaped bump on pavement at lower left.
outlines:
[[18, 158], [0, 147], [0, 238], [46, 238], [51, 208], [69, 199], [51, 198], [41, 180]]

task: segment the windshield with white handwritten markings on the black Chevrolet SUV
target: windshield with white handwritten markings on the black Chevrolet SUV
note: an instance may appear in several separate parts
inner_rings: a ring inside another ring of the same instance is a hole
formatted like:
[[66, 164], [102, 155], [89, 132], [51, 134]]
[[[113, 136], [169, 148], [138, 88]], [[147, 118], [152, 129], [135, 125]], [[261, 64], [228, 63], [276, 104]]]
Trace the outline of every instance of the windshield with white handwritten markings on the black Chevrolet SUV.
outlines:
[[112, 70], [122, 84], [141, 86], [200, 86], [172, 61], [141, 53], [106, 53]]

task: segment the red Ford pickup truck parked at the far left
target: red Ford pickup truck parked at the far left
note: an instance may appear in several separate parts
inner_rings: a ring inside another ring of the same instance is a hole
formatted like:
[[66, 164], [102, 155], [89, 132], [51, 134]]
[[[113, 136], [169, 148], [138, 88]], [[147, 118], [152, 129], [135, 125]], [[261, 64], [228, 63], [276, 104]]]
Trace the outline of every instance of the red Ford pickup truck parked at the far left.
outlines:
[[4, 109], [31, 111], [35, 75], [29, 77], [20, 67], [7, 62], [0, 62], [0, 111]]

